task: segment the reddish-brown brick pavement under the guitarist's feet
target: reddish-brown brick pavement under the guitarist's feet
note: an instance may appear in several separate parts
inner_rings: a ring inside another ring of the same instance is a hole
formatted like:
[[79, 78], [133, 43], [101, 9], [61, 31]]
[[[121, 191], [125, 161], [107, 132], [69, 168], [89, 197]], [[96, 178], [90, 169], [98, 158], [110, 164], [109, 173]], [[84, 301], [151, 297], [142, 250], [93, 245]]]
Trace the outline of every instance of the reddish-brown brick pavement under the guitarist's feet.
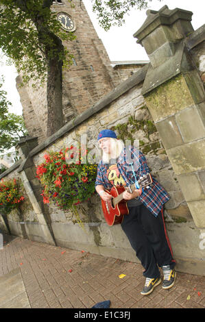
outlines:
[[4, 241], [0, 276], [21, 269], [31, 308], [91, 308], [108, 299], [110, 308], [205, 308], [205, 277], [178, 272], [173, 288], [143, 296], [141, 264], [16, 236]]

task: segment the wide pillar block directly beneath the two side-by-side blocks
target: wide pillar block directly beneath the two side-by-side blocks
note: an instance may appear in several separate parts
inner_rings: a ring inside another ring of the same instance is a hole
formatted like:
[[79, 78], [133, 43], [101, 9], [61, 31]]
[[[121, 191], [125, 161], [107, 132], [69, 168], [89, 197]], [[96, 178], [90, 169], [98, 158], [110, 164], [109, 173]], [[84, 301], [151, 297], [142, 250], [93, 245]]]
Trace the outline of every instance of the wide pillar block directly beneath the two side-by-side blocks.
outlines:
[[167, 155], [176, 175], [202, 171], [205, 169], [205, 140], [167, 149]]

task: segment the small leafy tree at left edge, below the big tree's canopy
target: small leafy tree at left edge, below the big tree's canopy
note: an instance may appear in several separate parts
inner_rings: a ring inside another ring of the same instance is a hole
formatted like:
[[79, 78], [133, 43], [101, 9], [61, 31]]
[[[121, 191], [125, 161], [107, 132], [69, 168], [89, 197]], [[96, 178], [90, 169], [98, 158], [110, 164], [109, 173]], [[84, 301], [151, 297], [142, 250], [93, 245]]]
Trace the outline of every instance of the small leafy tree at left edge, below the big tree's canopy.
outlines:
[[23, 116], [9, 113], [11, 103], [6, 99], [5, 90], [1, 90], [3, 79], [0, 80], [0, 153], [10, 149], [22, 136], [27, 135]]

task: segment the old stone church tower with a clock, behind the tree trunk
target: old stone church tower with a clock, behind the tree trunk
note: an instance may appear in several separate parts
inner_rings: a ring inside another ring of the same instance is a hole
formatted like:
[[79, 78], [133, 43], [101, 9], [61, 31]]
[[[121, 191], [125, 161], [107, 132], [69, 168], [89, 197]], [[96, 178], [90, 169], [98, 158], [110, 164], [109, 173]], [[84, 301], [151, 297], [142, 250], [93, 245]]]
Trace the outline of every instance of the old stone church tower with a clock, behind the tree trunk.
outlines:
[[[112, 68], [108, 53], [98, 38], [81, 0], [55, 0], [51, 10], [58, 13], [62, 28], [74, 32], [76, 39], [63, 42], [73, 54], [73, 65], [63, 71], [63, 113], [66, 122], [93, 106], [120, 82], [119, 72]], [[23, 88], [21, 75], [16, 77], [23, 117], [30, 136], [38, 136], [38, 143], [46, 138], [46, 86], [36, 91], [29, 84]]]

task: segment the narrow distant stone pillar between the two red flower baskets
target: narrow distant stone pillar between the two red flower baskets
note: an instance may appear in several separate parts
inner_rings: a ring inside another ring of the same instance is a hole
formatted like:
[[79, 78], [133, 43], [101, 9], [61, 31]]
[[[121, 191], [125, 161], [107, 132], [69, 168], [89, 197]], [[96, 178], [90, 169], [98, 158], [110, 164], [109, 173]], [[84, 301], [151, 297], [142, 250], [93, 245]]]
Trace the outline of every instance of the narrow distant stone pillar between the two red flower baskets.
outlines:
[[[29, 201], [34, 208], [34, 212], [36, 212], [36, 216], [38, 217], [38, 223], [42, 231], [43, 240], [45, 243], [49, 243], [50, 245], [56, 245], [47, 206], [43, 203], [42, 196], [40, 195], [42, 193], [42, 189], [38, 179], [36, 178], [34, 162], [29, 156], [29, 152], [37, 145], [38, 138], [32, 138], [29, 136], [22, 138], [16, 145], [16, 149], [19, 151], [21, 159], [23, 159], [18, 172], [21, 175], [27, 197], [29, 198]], [[27, 235], [29, 235], [29, 233], [27, 233]]]

